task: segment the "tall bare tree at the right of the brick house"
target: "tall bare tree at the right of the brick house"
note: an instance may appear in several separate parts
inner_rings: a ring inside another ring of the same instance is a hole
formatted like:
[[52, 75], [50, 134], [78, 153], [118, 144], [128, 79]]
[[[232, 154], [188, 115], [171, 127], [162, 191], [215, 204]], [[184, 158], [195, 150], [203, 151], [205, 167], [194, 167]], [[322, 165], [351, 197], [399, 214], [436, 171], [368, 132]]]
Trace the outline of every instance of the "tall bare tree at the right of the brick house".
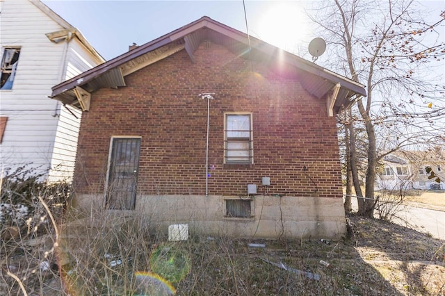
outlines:
[[[378, 161], [414, 140], [439, 139], [444, 133], [444, 79], [432, 76], [433, 65], [444, 60], [445, 45], [436, 31], [445, 13], [428, 24], [419, 3], [407, 0], [333, 0], [314, 10], [312, 19], [323, 28], [331, 68], [366, 85], [367, 97], [357, 100], [359, 120], [367, 134], [365, 194], [360, 188], [355, 124], [350, 122], [350, 170], [359, 199], [359, 215], [373, 217]], [[444, 7], [445, 9], [445, 7]], [[443, 67], [443, 65], [442, 65]], [[443, 76], [443, 74], [442, 74]], [[437, 82], [435, 81], [437, 79]], [[440, 127], [442, 124], [442, 128]], [[382, 133], [398, 134], [390, 149], [380, 149]]]

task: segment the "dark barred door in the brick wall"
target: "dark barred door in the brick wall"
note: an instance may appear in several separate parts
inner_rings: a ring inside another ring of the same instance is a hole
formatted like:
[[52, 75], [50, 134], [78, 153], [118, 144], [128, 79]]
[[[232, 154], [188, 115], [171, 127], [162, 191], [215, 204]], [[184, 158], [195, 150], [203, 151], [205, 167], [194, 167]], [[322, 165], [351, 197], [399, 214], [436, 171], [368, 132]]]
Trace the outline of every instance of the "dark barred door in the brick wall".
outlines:
[[113, 210], [133, 210], [140, 155], [140, 138], [112, 138], [106, 204]]

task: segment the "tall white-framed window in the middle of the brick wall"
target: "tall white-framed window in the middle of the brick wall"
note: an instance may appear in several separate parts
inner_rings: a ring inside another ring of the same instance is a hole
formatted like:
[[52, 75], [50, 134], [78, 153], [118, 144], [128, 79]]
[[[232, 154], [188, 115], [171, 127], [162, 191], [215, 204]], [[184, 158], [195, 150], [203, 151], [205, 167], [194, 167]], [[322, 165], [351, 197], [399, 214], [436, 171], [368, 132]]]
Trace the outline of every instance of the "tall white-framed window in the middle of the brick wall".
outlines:
[[252, 115], [225, 115], [225, 163], [253, 163]]

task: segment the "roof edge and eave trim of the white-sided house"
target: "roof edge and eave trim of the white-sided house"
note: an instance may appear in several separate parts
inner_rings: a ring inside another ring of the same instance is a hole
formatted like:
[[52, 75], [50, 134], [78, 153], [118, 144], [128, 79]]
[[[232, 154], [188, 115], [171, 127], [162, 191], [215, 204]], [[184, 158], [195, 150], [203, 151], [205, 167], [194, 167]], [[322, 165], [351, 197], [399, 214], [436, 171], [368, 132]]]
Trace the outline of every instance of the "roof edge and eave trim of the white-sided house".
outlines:
[[[54, 22], [56, 22], [59, 26], [61, 26], [65, 29], [63, 31], [54, 32], [56, 35], [58, 35], [58, 37], [62, 37], [61, 35], [66, 35], [68, 33], [70, 33], [73, 36], [76, 36], [76, 38], [79, 39], [79, 41], [86, 47], [86, 49], [88, 49], [88, 51], [90, 51], [90, 53], [93, 56], [95, 56], [102, 62], [105, 62], [105, 59], [96, 51], [96, 49], [94, 47], [92, 47], [92, 45], [88, 42], [88, 40], [86, 40], [85, 36], [83, 36], [83, 34], [81, 33], [81, 31], [79, 31], [79, 29], [77, 29], [76, 27], [72, 26], [70, 23], [65, 21], [65, 19], [60, 17], [60, 15], [58, 15], [57, 13], [54, 13], [54, 11], [51, 10], [51, 8], [49, 8], [48, 6], [44, 5], [44, 3], [42, 3], [42, 1], [40, 1], [40, 0], [29, 0], [29, 1], [31, 3], [33, 3], [37, 8], [42, 10], [42, 13], [47, 15]], [[51, 39], [50, 35], [51, 35], [51, 33], [47, 34], [49, 40], [54, 41]]]

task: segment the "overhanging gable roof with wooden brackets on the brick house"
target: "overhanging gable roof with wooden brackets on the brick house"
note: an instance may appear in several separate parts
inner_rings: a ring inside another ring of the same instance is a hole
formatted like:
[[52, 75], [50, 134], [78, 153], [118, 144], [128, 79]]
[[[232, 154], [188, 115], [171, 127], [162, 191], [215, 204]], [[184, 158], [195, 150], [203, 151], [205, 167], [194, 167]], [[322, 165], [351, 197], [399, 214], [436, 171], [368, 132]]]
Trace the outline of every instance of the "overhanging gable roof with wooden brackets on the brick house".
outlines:
[[[76, 97], [76, 92], [79, 95], [77, 91], [79, 88], [82, 88], [83, 92], [94, 92], [99, 88], [125, 86], [124, 76], [183, 49], [186, 50], [193, 62], [193, 54], [204, 40], [223, 44], [241, 58], [252, 60], [268, 58], [268, 62], [273, 65], [283, 65], [284, 62], [286, 68], [282, 68], [282, 70], [289, 71], [291, 69], [290, 73], [298, 75], [303, 88], [309, 93], [318, 99], [327, 96], [334, 97], [332, 108], [336, 112], [341, 108], [348, 108], [353, 102], [351, 98], [366, 97], [364, 85], [204, 16], [191, 24], [55, 85], [52, 88], [51, 98], [62, 101], [63, 104], [81, 108], [81, 102]], [[280, 70], [280, 67], [277, 69]]]

